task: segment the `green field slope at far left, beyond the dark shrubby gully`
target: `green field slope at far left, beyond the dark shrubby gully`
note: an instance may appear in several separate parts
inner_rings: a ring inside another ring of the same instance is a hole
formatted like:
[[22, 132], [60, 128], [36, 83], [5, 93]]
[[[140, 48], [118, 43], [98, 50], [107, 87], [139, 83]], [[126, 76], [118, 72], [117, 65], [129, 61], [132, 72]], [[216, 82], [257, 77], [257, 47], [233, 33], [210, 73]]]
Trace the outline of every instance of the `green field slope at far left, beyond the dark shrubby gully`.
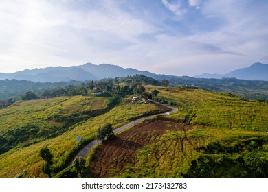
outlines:
[[56, 137], [107, 109], [102, 97], [57, 97], [19, 101], [0, 110], [0, 154]]

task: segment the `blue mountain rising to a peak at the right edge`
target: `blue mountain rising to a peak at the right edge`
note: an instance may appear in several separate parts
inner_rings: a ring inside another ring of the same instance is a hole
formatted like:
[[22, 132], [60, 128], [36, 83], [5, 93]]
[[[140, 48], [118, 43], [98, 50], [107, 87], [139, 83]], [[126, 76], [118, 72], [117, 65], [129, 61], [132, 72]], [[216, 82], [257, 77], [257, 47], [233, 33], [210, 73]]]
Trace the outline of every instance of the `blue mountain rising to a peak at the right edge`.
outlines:
[[195, 76], [197, 78], [236, 78], [241, 80], [265, 80], [268, 81], [268, 64], [256, 62], [249, 67], [236, 69], [225, 75], [204, 73], [202, 75]]

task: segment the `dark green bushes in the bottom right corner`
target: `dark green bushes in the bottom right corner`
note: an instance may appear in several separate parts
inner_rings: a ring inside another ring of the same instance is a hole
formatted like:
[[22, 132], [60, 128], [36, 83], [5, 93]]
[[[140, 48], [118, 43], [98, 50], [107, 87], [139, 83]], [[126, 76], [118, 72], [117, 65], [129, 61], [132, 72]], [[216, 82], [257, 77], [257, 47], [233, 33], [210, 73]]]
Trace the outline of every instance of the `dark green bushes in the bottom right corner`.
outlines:
[[[241, 141], [226, 146], [214, 142], [201, 147], [204, 152], [192, 160], [185, 178], [266, 178], [268, 174], [267, 139]], [[266, 147], [266, 149], [265, 149]], [[236, 155], [234, 155], [236, 154]], [[230, 167], [232, 169], [226, 169]]]

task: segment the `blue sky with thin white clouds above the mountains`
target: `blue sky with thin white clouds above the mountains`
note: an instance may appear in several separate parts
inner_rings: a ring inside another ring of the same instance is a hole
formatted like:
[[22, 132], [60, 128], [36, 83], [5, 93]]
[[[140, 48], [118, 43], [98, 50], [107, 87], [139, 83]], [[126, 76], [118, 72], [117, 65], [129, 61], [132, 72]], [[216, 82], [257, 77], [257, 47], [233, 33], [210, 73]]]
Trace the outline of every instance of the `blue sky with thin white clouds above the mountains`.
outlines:
[[0, 0], [0, 72], [115, 64], [166, 75], [268, 63], [267, 0]]

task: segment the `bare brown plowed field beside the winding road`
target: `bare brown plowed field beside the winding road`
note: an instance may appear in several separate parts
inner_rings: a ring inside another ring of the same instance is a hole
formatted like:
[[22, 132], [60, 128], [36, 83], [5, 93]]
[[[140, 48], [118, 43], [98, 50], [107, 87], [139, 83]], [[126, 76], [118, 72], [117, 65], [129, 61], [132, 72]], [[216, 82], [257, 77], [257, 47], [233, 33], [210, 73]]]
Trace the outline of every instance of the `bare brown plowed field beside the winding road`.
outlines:
[[105, 141], [96, 149], [89, 167], [91, 178], [112, 178], [124, 172], [131, 165], [139, 149], [159, 141], [166, 130], [187, 131], [188, 125], [177, 122], [155, 120], [141, 123], [119, 134], [115, 139]]

